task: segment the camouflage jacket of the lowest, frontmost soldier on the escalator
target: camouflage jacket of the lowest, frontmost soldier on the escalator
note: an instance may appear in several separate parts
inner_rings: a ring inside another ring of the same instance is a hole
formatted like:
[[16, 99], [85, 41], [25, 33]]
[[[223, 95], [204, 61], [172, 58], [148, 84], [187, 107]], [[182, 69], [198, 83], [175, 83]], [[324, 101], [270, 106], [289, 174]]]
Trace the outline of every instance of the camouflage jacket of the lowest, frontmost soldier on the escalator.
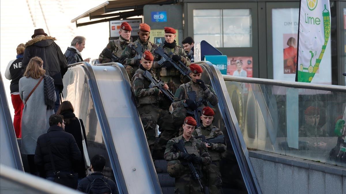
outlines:
[[[194, 137], [191, 136], [191, 138], [186, 141], [185, 138], [183, 138], [183, 135], [179, 137], [174, 137], [173, 139], [169, 140], [166, 145], [166, 151], [164, 154], [164, 158], [166, 161], [174, 160], [174, 159], [181, 159], [183, 153], [181, 153], [179, 150], [176, 150], [174, 148], [174, 144], [179, 142], [180, 139], [183, 139], [185, 146], [192, 146]], [[196, 146], [199, 152], [199, 156], [202, 157], [202, 165], [208, 165], [211, 163], [211, 157], [208, 153], [208, 149], [206, 145], [199, 139], [196, 139]]]

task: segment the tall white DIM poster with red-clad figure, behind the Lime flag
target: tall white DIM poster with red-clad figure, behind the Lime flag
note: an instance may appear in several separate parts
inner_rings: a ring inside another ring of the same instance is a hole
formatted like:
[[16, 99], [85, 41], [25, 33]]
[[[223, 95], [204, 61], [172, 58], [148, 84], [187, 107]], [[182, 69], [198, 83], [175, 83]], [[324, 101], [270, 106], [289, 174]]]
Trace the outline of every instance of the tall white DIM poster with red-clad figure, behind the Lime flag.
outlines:
[[[302, 1], [306, 3], [306, 0]], [[298, 60], [298, 25], [299, 8], [272, 10], [273, 79], [285, 81], [295, 80], [295, 67]], [[324, 58], [327, 63], [323, 68], [324, 73], [320, 73], [322, 69], [317, 71], [315, 76], [319, 78], [313, 80], [313, 83], [331, 84], [330, 45], [326, 48]]]

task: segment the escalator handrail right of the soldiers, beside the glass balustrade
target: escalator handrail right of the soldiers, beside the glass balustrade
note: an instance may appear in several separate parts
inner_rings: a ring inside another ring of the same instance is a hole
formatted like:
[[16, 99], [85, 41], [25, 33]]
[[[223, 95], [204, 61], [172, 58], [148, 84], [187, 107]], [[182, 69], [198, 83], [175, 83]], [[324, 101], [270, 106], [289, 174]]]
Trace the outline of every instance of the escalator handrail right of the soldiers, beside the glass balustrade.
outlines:
[[[207, 65], [201, 64], [202, 62]], [[237, 117], [231, 104], [231, 100], [229, 98], [221, 72], [217, 70], [215, 66], [213, 66], [209, 61], [201, 61], [195, 63], [205, 67], [210, 78], [211, 86], [218, 96], [218, 107], [220, 110], [220, 114], [225, 122], [229, 140], [234, 149], [234, 154], [239, 164], [240, 172], [243, 175], [243, 180], [247, 188], [247, 192], [261, 193], [261, 188], [257, 182], [256, 174], [252, 167], [248, 150], [242, 136], [242, 132], [240, 131]]]

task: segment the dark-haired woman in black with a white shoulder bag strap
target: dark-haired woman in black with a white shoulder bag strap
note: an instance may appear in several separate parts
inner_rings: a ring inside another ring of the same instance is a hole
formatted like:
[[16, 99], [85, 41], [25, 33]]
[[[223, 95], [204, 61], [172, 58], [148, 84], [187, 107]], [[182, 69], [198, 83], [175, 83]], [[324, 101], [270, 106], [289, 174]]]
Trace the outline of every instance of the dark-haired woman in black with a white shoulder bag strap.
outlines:
[[[70, 103], [70, 101], [63, 101], [61, 105], [59, 106], [59, 109], [56, 112], [56, 114], [62, 115], [64, 117], [65, 132], [73, 135], [78, 145], [78, 148], [82, 153], [81, 162], [74, 169], [76, 169], [75, 172], [78, 173], [79, 178], [84, 178], [86, 175], [85, 174], [86, 166], [85, 166], [84, 157], [88, 157], [89, 159], [89, 156], [84, 156], [83, 154], [82, 135], [84, 136], [84, 139], [86, 139], [85, 128], [84, 128], [83, 120], [78, 119], [73, 112], [74, 112], [74, 108], [72, 104]], [[82, 134], [82, 131], [83, 131], [83, 134]]]

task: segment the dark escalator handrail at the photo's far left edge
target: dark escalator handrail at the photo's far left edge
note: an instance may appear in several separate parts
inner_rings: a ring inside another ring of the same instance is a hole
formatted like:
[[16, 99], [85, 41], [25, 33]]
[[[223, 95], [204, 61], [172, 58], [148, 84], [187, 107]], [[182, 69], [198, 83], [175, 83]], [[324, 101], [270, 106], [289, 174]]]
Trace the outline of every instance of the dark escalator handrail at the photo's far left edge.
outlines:
[[5, 121], [1, 121], [1, 122], [6, 122], [8, 133], [10, 136], [9, 140], [11, 142], [11, 147], [13, 150], [13, 157], [15, 158], [17, 169], [19, 171], [24, 172], [23, 162], [22, 162], [22, 159], [20, 156], [17, 137], [16, 137], [15, 130], [13, 128], [12, 117], [11, 117], [10, 109], [8, 106], [8, 102], [7, 102], [7, 98], [6, 98], [6, 92], [5, 92], [5, 88], [3, 86], [3, 81], [2, 81], [1, 75], [0, 75], [0, 82], [1, 82], [0, 83], [0, 102], [1, 102], [0, 106], [2, 106], [2, 108], [3, 108], [4, 117], [5, 117]]

